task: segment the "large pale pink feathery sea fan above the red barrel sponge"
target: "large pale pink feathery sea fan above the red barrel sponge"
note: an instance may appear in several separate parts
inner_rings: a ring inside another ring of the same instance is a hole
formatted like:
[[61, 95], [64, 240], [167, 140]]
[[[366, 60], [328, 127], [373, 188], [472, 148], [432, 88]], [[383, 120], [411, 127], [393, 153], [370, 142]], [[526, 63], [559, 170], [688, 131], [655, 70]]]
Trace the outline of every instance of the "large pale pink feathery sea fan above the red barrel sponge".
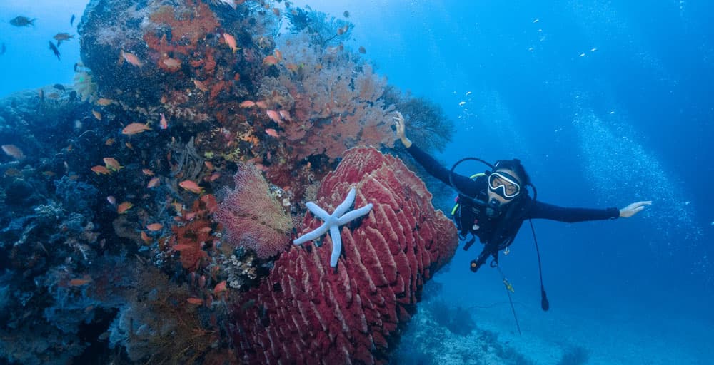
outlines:
[[323, 153], [334, 160], [356, 145], [392, 145], [386, 122], [393, 108], [381, 99], [386, 80], [371, 66], [346, 51], [323, 53], [304, 34], [281, 49], [286, 65], [303, 65], [280, 78], [295, 99], [293, 121], [281, 124], [295, 160]]

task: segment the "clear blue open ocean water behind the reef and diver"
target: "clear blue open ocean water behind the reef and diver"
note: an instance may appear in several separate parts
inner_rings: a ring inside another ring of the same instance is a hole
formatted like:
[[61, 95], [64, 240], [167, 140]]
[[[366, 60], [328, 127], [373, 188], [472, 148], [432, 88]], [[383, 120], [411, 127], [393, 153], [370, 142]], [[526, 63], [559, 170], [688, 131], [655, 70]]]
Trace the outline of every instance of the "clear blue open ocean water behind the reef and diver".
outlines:
[[[576, 207], [652, 200], [630, 219], [536, 221], [549, 312], [539, 308], [524, 225], [501, 267], [468, 270], [458, 250], [435, 277], [444, 298], [538, 364], [584, 346], [592, 364], [711, 364], [714, 327], [714, 27], [709, 1], [294, 1], [350, 11], [351, 42], [390, 83], [440, 104], [457, 133], [438, 155], [521, 158], [538, 199]], [[0, 96], [71, 83], [86, 1], [0, 4]], [[38, 18], [18, 29], [9, 19]], [[481, 169], [481, 166], [474, 166]], [[673, 361], [673, 362], [672, 362]]]

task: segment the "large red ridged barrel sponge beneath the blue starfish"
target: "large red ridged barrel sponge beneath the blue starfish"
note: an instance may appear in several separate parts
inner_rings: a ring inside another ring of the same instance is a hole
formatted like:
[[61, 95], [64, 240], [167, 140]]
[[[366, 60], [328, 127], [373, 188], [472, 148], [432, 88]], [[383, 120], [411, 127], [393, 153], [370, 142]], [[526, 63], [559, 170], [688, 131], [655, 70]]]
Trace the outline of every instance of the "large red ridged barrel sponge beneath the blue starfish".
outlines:
[[[348, 150], [316, 204], [331, 212], [351, 186], [355, 206], [374, 207], [353, 230], [342, 227], [336, 272], [329, 238], [322, 247], [292, 247], [234, 309], [233, 336], [248, 363], [385, 363], [424, 283], [453, 256], [456, 228], [401, 160], [373, 148]], [[306, 215], [303, 232], [321, 223]]]

